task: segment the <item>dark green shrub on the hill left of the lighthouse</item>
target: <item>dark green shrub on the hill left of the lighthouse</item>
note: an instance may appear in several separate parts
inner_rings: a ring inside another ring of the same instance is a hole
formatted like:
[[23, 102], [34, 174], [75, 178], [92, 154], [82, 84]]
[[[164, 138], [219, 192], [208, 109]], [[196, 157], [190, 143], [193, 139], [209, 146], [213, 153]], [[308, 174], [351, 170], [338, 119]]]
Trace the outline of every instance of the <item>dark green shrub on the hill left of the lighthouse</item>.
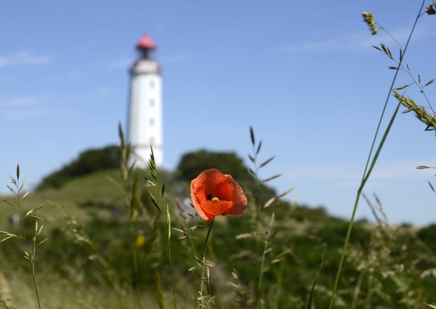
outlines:
[[120, 162], [121, 150], [118, 146], [86, 150], [79, 155], [77, 160], [44, 177], [37, 190], [48, 187], [60, 188], [74, 177], [93, 173], [97, 170], [119, 168]]

